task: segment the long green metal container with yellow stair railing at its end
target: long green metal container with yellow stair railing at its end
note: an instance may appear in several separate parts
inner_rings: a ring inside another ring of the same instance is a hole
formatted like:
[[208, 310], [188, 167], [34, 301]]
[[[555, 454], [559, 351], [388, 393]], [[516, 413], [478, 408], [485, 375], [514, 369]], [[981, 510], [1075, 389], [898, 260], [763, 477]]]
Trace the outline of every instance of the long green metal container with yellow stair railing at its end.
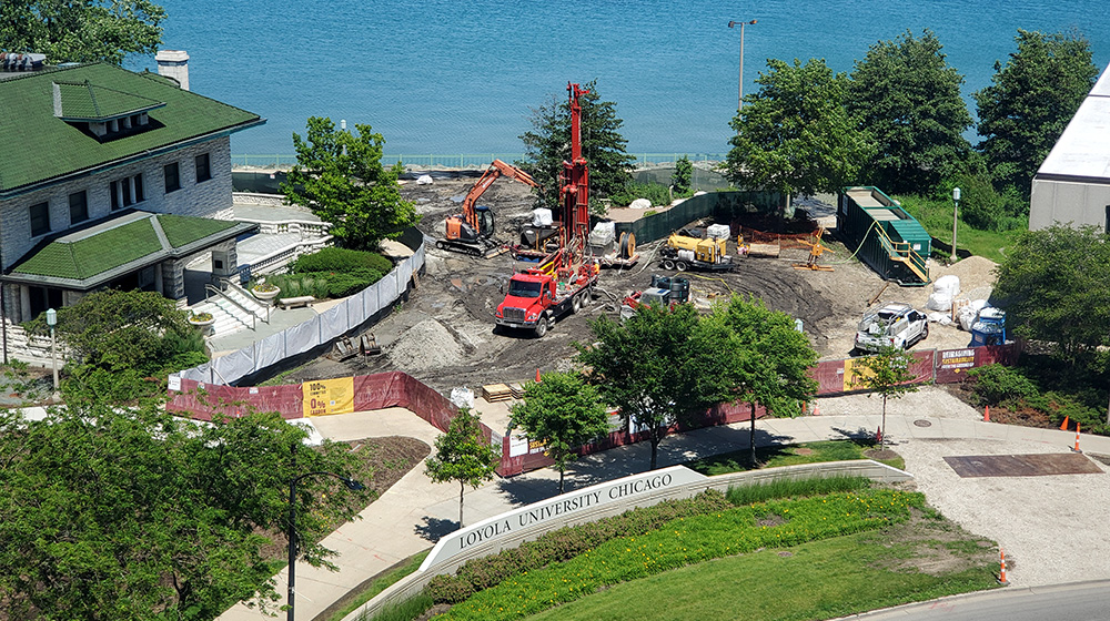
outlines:
[[836, 212], [837, 230], [856, 256], [884, 279], [902, 286], [929, 283], [926, 258], [932, 237], [914, 216], [878, 187], [845, 187]]

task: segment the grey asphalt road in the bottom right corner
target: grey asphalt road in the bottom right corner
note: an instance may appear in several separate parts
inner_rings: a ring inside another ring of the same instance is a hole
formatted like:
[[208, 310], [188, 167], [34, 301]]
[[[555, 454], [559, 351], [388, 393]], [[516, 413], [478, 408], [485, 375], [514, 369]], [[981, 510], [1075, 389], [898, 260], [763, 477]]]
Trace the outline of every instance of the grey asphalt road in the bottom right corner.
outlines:
[[848, 617], [861, 621], [1097, 621], [1110, 619], [1110, 581], [1000, 589]]

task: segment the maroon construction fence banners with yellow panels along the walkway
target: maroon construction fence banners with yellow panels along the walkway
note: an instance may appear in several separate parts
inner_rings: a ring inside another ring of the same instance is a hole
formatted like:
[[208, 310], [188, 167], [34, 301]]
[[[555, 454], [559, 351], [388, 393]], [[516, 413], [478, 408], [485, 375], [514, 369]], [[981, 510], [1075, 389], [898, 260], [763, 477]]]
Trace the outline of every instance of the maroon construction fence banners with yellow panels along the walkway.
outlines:
[[[953, 384], [963, 380], [969, 368], [993, 363], [1012, 365], [1020, 352], [1020, 344], [1016, 343], [991, 347], [912, 352], [914, 363], [910, 365], [910, 371], [915, 375], [914, 383]], [[810, 376], [818, 383], [817, 395], [831, 396], [862, 390], [854, 383], [856, 364], [856, 359], [848, 358], [823, 362], [813, 367]], [[324, 384], [337, 386], [339, 393], [330, 395], [341, 395], [340, 399], [330, 401], [333, 407], [326, 408], [326, 414], [402, 407], [423, 418], [436, 429], [446, 431], [452, 417], [458, 411], [450, 400], [435, 389], [402, 371], [307, 384], [244, 388], [182, 379], [178, 389], [170, 390], [167, 409], [202, 420], [211, 420], [215, 414], [238, 417], [252, 409], [276, 411], [286, 419], [303, 418], [306, 411], [305, 394], [319, 389], [317, 385]], [[350, 390], [351, 394], [346, 394], [346, 390]], [[339, 405], [336, 401], [340, 401]], [[310, 411], [312, 411], [311, 408]], [[699, 427], [741, 423], [749, 420], [750, 415], [751, 409], [748, 404], [722, 404], [706, 413], [702, 420], [690, 425], [672, 425], [664, 435]], [[756, 418], [765, 415], [764, 408], [756, 407]], [[585, 445], [582, 447], [582, 455], [648, 439], [646, 430], [632, 431], [627, 423], [623, 420], [615, 421], [615, 424], [622, 425], [623, 428], [612, 431], [595, 442]], [[492, 444], [501, 446], [502, 458], [497, 474], [503, 477], [543, 468], [553, 462], [544, 452], [542, 445], [529, 442], [523, 438], [502, 436], [485, 425], [482, 425], [482, 430]]]

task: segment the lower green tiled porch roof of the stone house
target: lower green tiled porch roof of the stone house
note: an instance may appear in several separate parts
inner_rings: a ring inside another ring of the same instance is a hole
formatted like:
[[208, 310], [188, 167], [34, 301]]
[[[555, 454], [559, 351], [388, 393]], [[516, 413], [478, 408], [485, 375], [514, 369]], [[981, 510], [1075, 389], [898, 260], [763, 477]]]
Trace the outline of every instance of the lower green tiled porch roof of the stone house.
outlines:
[[[64, 233], [28, 253], [9, 273], [9, 278], [89, 288], [255, 228], [258, 225], [204, 217], [124, 213], [85, 230]], [[179, 248], [184, 250], [179, 253]]]

